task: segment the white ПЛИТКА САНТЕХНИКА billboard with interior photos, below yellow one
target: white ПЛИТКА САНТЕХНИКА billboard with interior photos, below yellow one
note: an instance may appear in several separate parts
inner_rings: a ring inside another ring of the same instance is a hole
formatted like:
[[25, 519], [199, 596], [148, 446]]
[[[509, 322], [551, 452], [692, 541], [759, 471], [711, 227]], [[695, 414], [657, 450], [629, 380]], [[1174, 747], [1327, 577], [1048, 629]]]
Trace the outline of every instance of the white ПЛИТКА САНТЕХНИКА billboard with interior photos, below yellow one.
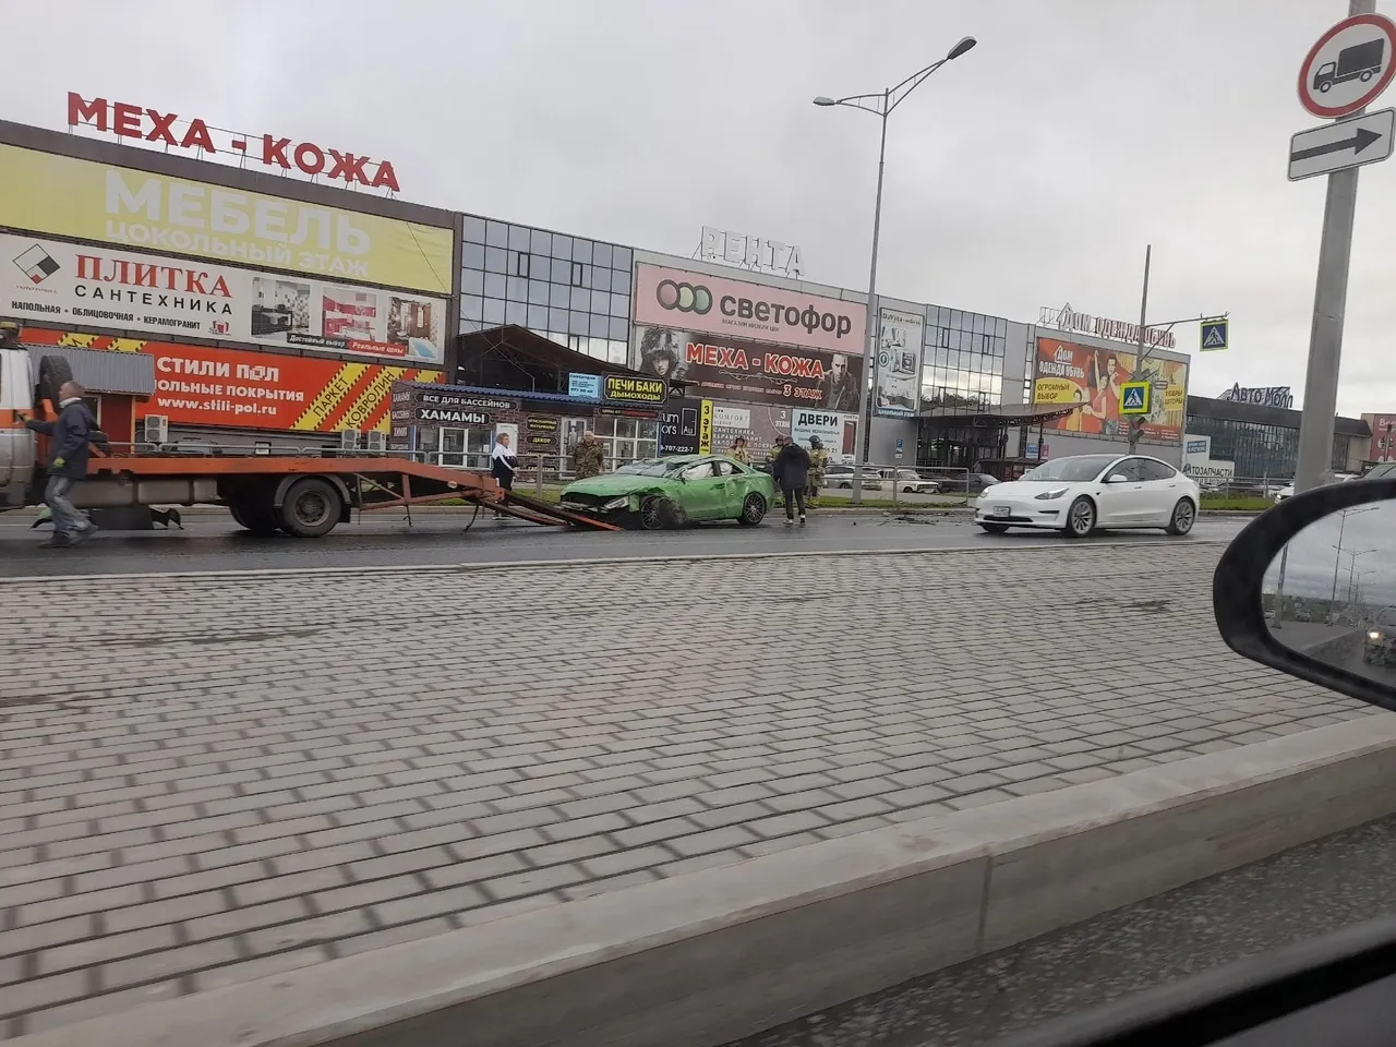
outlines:
[[0, 235], [0, 313], [441, 364], [445, 299]]

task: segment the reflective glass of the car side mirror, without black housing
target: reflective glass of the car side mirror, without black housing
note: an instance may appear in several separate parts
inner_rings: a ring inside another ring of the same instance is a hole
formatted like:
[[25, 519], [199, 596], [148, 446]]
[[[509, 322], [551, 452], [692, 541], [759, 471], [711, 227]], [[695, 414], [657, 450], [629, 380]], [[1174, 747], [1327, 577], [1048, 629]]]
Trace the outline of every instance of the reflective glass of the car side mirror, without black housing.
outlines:
[[1286, 648], [1396, 687], [1396, 501], [1307, 526], [1266, 571], [1262, 602]]

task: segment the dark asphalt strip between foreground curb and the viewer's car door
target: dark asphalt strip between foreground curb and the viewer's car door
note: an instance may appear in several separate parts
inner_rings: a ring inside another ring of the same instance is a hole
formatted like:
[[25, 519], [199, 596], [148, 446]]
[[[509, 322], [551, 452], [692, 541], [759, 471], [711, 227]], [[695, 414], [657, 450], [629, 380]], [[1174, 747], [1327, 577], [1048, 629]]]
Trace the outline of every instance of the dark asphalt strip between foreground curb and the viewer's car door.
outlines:
[[1118, 909], [729, 1047], [969, 1047], [1396, 914], [1396, 818]]

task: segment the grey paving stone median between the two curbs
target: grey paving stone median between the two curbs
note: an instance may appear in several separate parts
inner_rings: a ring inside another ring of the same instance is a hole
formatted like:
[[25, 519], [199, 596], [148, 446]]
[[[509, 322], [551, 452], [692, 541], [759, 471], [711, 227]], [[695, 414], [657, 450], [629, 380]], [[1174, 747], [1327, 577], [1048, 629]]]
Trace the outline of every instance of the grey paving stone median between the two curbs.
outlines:
[[1219, 554], [0, 584], [0, 1039], [1367, 715]]

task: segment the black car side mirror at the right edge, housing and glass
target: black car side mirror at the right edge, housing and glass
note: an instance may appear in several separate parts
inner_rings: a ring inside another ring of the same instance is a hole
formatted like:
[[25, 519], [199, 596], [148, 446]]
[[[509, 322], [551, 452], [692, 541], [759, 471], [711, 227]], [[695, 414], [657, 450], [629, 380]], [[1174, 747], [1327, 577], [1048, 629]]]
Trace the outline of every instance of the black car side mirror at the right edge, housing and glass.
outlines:
[[1248, 524], [1212, 607], [1238, 655], [1396, 711], [1396, 480], [1330, 484]]

